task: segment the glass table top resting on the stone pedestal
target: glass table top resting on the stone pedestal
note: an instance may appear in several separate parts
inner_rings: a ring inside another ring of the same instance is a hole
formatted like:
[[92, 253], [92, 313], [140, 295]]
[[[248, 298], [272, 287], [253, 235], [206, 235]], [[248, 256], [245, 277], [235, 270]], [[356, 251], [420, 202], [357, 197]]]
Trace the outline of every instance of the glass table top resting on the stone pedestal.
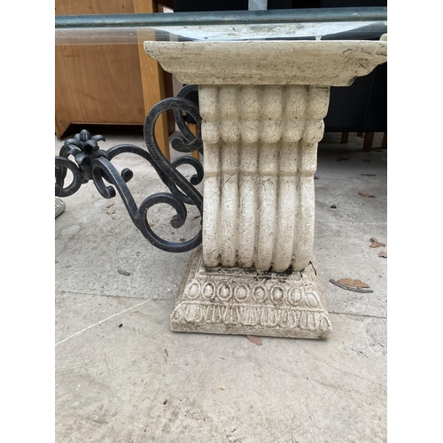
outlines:
[[57, 16], [56, 44], [378, 40], [385, 7]]

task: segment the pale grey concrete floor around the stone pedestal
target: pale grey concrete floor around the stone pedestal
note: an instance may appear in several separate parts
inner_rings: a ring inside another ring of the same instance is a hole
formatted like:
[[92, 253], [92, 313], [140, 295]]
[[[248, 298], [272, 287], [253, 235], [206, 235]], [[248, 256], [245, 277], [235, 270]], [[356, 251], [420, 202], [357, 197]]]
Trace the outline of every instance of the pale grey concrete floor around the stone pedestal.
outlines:
[[[144, 146], [141, 131], [102, 134], [102, 149]], [[171, 332], [190, 253], [154, 248], [120, 197], [106, 200], [92, 183], [65, 198], [55, 221], [56, 441], [385, 442], [387, 259], [378, 254], [387, 247], [369, 248], [371, 237], [387, 243], [381, 136], [371, 152], [354, 133], [347, 144], [339, 134], [319, 144], [315, 254], [328, 341], [262, 338], [257, 346], [243, 336]], [[143, 159], [117, 160], [135, 172], [137, 203], [165, 189]], [[159, 234], [198, 229], [196, 218], [174, 232], [168, 214], [152, 214]], [[329, 282], [346, 277], [373, 292]]]

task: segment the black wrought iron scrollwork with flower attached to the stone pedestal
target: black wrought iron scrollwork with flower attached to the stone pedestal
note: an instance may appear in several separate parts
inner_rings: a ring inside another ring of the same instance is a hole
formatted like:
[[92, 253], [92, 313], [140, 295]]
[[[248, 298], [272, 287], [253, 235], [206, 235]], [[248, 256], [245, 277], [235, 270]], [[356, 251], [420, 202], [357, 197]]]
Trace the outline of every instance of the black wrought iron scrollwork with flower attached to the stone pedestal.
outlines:
[[[184, 253], [194, 249], [201, 244], [201, 228], [198, 234], [188, 241], [171, 242], [159, 237], [151, 228], [147, 220], [148, 210], [160, 203], [172, 206], [175, 209], [175, 215], [170, 220], [173, 228], [181, 228], [187, 219], [186, 205], [196, 206], [200, 215], [203, 217], [203, 197], [195, 188], [203, 180], [203, 167], [198, 159], [190, 156], [181, 156], [169, 162], [159, 149], [154, 134], [155, 122], [159, 115], [169, 109], [174, 110], [175, 119], [178, 128], [183, 136], [175, 137], [171, 146], [177, 152], [198, 151], [203, 154], [203, 143], [201, 141], [201, 117], [198, 113], [198, 106], [186, 98], [190, 92], [198, 90], [197, 86], [185, 86], [177, 97], [166, 98], [152, 107], [152, 110], [146, 116], [144, 121], [144, 141], [147, 151], [133, 144], [119, 144], [113, 146], [107, 151], [100, 150], [98, 142], [105, 141], [103, 136], [90, 136], [85, 129], [73, 138], [69, 138], [60, 149], [59, 155], [55, 159], [55, 176], [57, 197], [68, 197], [80, 189], [83, 183], [92, 180], [96, 185], [98, 192], [104, 198], [113, 198], [117, 191], [120, 194], [132, 221], [142, 232], [152, 245], [161, 250], [172, 253]], [[183, 112], [189, 114], [197, 123], [198, 135], [194, 136], [188, 128]], [[119, 172], [113, 166], [112, 160], [122, 153], [136, 154], [151, 163], [155, 168], [160, 180], [167, 185], [170, 193], [159, 192], [147, 198], [140, 206], [136, 205], [128, 183], [133, 172], [124, 168]], [[74, 161], [70, 159], [74, 157]], [[195, 170], [195, 175], [188, 181], [177, 169], [182, 165], [190, 165]], [[67, 170], [73, 175], [72, 182], [65, 185]], [[107, 184], [109, 183], [109, 184]]]

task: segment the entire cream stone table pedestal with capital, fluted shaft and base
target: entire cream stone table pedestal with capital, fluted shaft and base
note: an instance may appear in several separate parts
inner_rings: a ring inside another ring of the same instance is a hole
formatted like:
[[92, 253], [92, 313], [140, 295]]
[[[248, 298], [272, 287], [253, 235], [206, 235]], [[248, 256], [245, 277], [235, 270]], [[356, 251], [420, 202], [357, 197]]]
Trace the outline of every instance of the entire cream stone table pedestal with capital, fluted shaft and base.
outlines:
[[190, 257], [171, 329], [328, 338], [313, 252], [317, 144], [330, 86], [386, 59], [386, 42], [146, 42], [199, 84], [203, 243]]

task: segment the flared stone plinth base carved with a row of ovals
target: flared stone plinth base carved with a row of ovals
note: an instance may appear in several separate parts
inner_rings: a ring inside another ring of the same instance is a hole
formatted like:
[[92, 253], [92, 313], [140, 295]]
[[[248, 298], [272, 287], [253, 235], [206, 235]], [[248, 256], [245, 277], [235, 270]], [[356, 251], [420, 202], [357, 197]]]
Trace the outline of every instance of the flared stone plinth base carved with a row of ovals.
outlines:
[[291, 273], [206, 268], [199, 247], [179, 286], [171, 330], [329, 338], [332, 328], [313, 262]]

